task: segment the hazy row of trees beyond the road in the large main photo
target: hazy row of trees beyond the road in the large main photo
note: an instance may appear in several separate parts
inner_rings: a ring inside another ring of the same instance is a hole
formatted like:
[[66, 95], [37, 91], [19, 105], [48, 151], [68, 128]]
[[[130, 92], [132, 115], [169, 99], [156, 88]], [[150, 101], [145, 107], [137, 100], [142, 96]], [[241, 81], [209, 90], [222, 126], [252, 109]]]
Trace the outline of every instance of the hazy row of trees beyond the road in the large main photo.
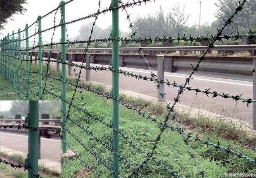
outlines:
[[[217, 7], [217, 11], [215, 12], [216, 21], [211, 24], [205, 23], [201, 25], [201, 36], [206, 36], [209, 34], [216, 34], [217, 28], [220, 29], [225, 23], [223, 19], [228, 19], [230, 15], [234, 13], [234, 10], [239, 5], [238, 0], [217, 0], [215, 3]], [[240, 34], [249, 33], [249, 29], [256, 28], [256, 21], [254, 20], [256, 17], [256, 2], [253, 0], [248, 0], [243, 7], [243, 10], [239, 12], [234, 19], [232, 20], [234, 23], [228, 25], [223, 33], [225, 34], [236, 34], [239, 31]], [[177, 37], [178, 34], [183, 36], [186, 34], [190, 36], [190, 34], [194, 37], [198, 36], [198, 25], [194, 24], [192, 26], [188, 26], [189, 14], [186, 13], [186, 9], [181, 8], [178, 4], [175, 4], [172, 8], [171, 12], [165, 12], [162, 7], [159, 8], [158, 12], [155, 15], [148, 14], [145, 17], [137, 16], [135, 21], [133, 22], [133, 31], [136, 31], [136, 36], [144, 38], [148, 37], [156, 37], [156, 36], [172, 36]], [[88, 39], [90, 34], [91, 26], [89, 24], [81, 26], [79, 30], [79, 35], [76, 39]], [[111, 33], [112, 27], [109, 26], [107, 29], [101, 29], [98, 26], [94, 26], [93, 38], [108, 38]], [[127, 33], [123, 33], [120, 31], [120, 36], [129, 36]], [[239, 41], [225, 41], [224, 44], [228, 45], [237, 45], [237, 44], [245, 44], [246, 39]], [[164, 44], [144, 44], [143, 46], [177, 46], [177, 45], [205, 45], [205, 43], [164, 43]], [[121, 44], [121, 47], [135, 47], [134, 44]], [[82, 45], [77, 47], [84, 47]], [[96, 43], [94, 48], [98, 47], [111, 47], [111, 43], [101, 44]]]

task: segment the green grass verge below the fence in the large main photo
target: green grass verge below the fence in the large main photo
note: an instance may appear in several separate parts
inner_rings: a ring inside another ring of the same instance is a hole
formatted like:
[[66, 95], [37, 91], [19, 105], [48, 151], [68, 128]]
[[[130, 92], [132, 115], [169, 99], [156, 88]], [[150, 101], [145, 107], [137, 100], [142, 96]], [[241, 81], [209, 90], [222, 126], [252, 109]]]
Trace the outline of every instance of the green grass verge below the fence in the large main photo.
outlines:
[[[36, 71], [37, 66], [33, 65], [32, 70]], [[43, 68], [45, 71], [45, 66]], [[23, 74], [24, 75], [24, 74]], [[57, 78], [60, 77], [59, 73], [55, 71], [50, 71], [50, 75], [55, 76]], [[25, 75], [24, 75], [25, 76]], [[32, 75], [31, 81], [37, 84], [37, 75]], [[70, 82], [74, 82], [74, 79], [69, 79]], [[3, 82], [3, 78], [0, 78], [0, 83]], [[43, 81], [43, 83], [45, 80]], [[24, 81], [22, 80], [22, 83]], [[82, 85], [85, 85], [83, 83]], [[89, 87], [94, 89], [100, 89], [104, 91], [104, 87], [94, 86], [92, 84], [87, 84]], [[2, 85], [0, 85], [2, 87]], [[8, 86], [9, 89], [12, 89]], [[37, 99], [36, 91], [38, 91], [38, 87], [31, 86], [31, 98]], [[46, 91], [43, 96], [43, 99], [59, 99], [61, 83], [57, 80], [48, 79], [46, 85]], [[1, 89], [1, 88], [0, 88]], [[25, 89], [21, 87], [22, 98], [24, 98]], [[54, 92], [55, 96], [52, 96], [48, 92]], [[72, 94], [74, 92], [74, 86], [67, 85], [67, 100], [70, 101]], [[35, 93], [35, 94], [33, 94]], [[143, 99], [132, 98], [127, 96], [122, 96], [121, 98], [127, 101], [130, 104], [134, 104], [138, 106], [138, 108], [144, 108], [147, 111], [152, 111], [155, 115], [158, 115], [158, 118], [163, 119], [165, 112], [163, 111], [163, 106], [160, 104], [152, 104], [152, 102], [144, 101]], [[6, 97], [5, 99], [8, 99]], [[16, 98], [17, 99], [17, 98]], [[91, 92], [86, 92], [79, 90], [74, 98], [74, 105], [78, 108], [86, 109], [89, 113], [94, 113], [95, 115], [100, 116], [100, 118], [110, 123], [112, 118], [112, 102], [103, 97], [100, 97]], [[102, 140], [106, 145], [111, 145], [112, 138], [112, 130], [106, 125], [98, 122], [94, 118], [91, 118], [84, 114], [84, 112], [77, 110], [74, 107], [70, 107], [70, 118], [75, 120], [80, 128], [77, 127], [77, 124], [74, 124], [69, 120], [67, 122], [68, 129], [72, 134], [76, 136], [77, 140], [73, 138], [70, 134], [68, 134], [68, 143], [71, 147], [79, 153], [81, 159], [83, 159], [87, 164], [89, 164], [96, 172], [102, 172], [102, 177], [109, 178], [111, 177], [111, 172], [103, 166], [102, 164], [98, 164], [98, 161], [92, 156], [88, 151], [81, 146], [81, 144], [86, 145], [90, 151], [95, 152], [98, 155], [98, 158], [105, 161], [109, 166], [112, 161], [112, 152], [109, 151], [103, 144], [100, 144], [94, 138], [98, 140]], [[138, 115], [136, 111], [128, 110], [127, 108], [123, 108], [120, 106], [120, 130], [122, 130], [125, 135], [128, 135], [129, 138], [136, 143], [138, 147], [143, 148], [145, 151], [150, 152], [152, 146], [155, 142], [156, 136], [159, 133], [159, 128], [156, 123], [151, 122], [151, 120], [146, 117], [142, 117]], [[208, 121], [210, 122], [210, 121]], [[184, 122], [185, 123], [185, 122]], [[223, 137], [221, 134], [221, 130], [218, 132], [213, 132], [215, 127], [211, 126], [211, 129], [206, 129], [207, 127], [203, 127], [203, 123], [200, 123], [199, 120], [197, 125], [193, 127], [187, 127], [187, 133], [194, 132], [195, 134], [201, 135], [201, 137], [205, 140], [210, 140], [213, 143], [217, 143], [220, 141], [220, 144], [228, 147], [232, 145], [232, 148], [237, 152], [243, 152], [249, 157], [254, 157], [255, 151], [249, 149], [243, 144], [238, 144], [239, 139], [227, 139]], [[210, 125], [207, 123], [206, 125]], [[82, 129], [89, 130], [92, 134], [86, 134]], [[201, 127], [203, 129], [198, 129]], [[195, 129], [196, 128], [196, 129]], [[219, 128], [220, 129], [220, 128]], [[241, 133], [239, 133], [241, 134]], [[197, 156], [199, 166], [205, 172], [206, 178], [216, 178], [220, 177], [222, 173], [254, 173], [256, 172], [256, 167], [253, 167], [252, 163], [248, 163], [248, 161], [244, 159], [239, 159], [236, 156], [229, 155], [227, 156], [227, 152], [225, 151], [216, 151], [216, 148], [209, 147], [206, 148], [206, 145], [200, 144], [200, 142], [189, 142], [194, 154]], [[138, 166], [139, 163], [144, 161], [146, 154], [137, 151], [132, 147], [127, 141], [120, 137], [120, 152], [122, 156], [125, 156], [127, 161], [131, 164], [132, 167]], [[156, 152], [155, 157], [158, 160], [161, 160], [163, 164], [166, 164], [168, 168], [174, 170], [178, 175], [186, 178], [196, 178], [198, 177], [198, 170], [196, 169], [195, 163], [192, 161], [191, 156], [188, 152], [187, 145], [184, 143], [183, 138], [177, 132], [165, 130], [162, 134], [162, 139], [160, 140]], [[122, 161], [120, 162], [120, 177], [127, 177], [129, 173], [131, 173], [132, 168], [130, 166], [126, 166]], [[147, 178], [165, 178], [172, 177], [168, 171], [161, 168], [160, 166], [154, 164], [153, 161], [149, 161], [143, 169], [140, 169], [140, 174], [144, 175]], [[88, 177], [88, 178], [98, 178], [99, 176], [90, 171], [84, 163], [79, 158], [75, 158], [72, 160], [65, 160], [62, 162], [62, 177], [63, 178], [80, 178], [80, 177]], [[136, 177], [136, 176], [134, 176]]]

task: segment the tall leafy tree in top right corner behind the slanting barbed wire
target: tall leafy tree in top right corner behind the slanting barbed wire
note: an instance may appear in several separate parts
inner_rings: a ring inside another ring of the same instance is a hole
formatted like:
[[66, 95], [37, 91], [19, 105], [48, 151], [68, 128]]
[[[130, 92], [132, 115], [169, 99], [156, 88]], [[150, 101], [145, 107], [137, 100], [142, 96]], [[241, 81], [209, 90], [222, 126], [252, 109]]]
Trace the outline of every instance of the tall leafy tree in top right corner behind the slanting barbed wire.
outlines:
[[[234, 14], [235, 9], [239, 5], [238, 0], [218, 0], [215, 3], [217, 11], [215, 13], [216, 17], [216, 27], [220, 28], [225, 23], [223, 19], [228, 19], [230, 15]], [[256, 2], [254, 0], [248, 0], [244, 3], [244, 7], [235, 17], [232, 19], [230, 25], [224, 29], [224, 33], [236, 33], [239, 31], [240, 34], [247, 33], [249, 29], [254, 29], [256, 27]]]

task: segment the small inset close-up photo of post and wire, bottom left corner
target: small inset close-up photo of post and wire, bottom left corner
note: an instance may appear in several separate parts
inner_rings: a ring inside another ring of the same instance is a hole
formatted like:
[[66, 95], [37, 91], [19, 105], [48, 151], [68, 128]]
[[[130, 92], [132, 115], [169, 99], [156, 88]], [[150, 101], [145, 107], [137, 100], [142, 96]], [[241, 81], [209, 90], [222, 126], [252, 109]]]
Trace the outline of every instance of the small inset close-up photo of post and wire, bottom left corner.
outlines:
[[0, 101], [0, 178], [60, 177], [60, 101]]

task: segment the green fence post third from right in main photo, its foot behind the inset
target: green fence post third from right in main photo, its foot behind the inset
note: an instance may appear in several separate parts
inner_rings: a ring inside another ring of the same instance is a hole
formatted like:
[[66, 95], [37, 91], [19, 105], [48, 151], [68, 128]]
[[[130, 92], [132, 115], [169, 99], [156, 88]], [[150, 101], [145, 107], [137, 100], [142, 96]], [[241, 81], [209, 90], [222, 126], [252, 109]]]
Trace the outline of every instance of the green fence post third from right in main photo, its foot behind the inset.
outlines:
[[38, 15], [38, 94], [40, 100], [42, 100], [42, 24], [41, 15]]

